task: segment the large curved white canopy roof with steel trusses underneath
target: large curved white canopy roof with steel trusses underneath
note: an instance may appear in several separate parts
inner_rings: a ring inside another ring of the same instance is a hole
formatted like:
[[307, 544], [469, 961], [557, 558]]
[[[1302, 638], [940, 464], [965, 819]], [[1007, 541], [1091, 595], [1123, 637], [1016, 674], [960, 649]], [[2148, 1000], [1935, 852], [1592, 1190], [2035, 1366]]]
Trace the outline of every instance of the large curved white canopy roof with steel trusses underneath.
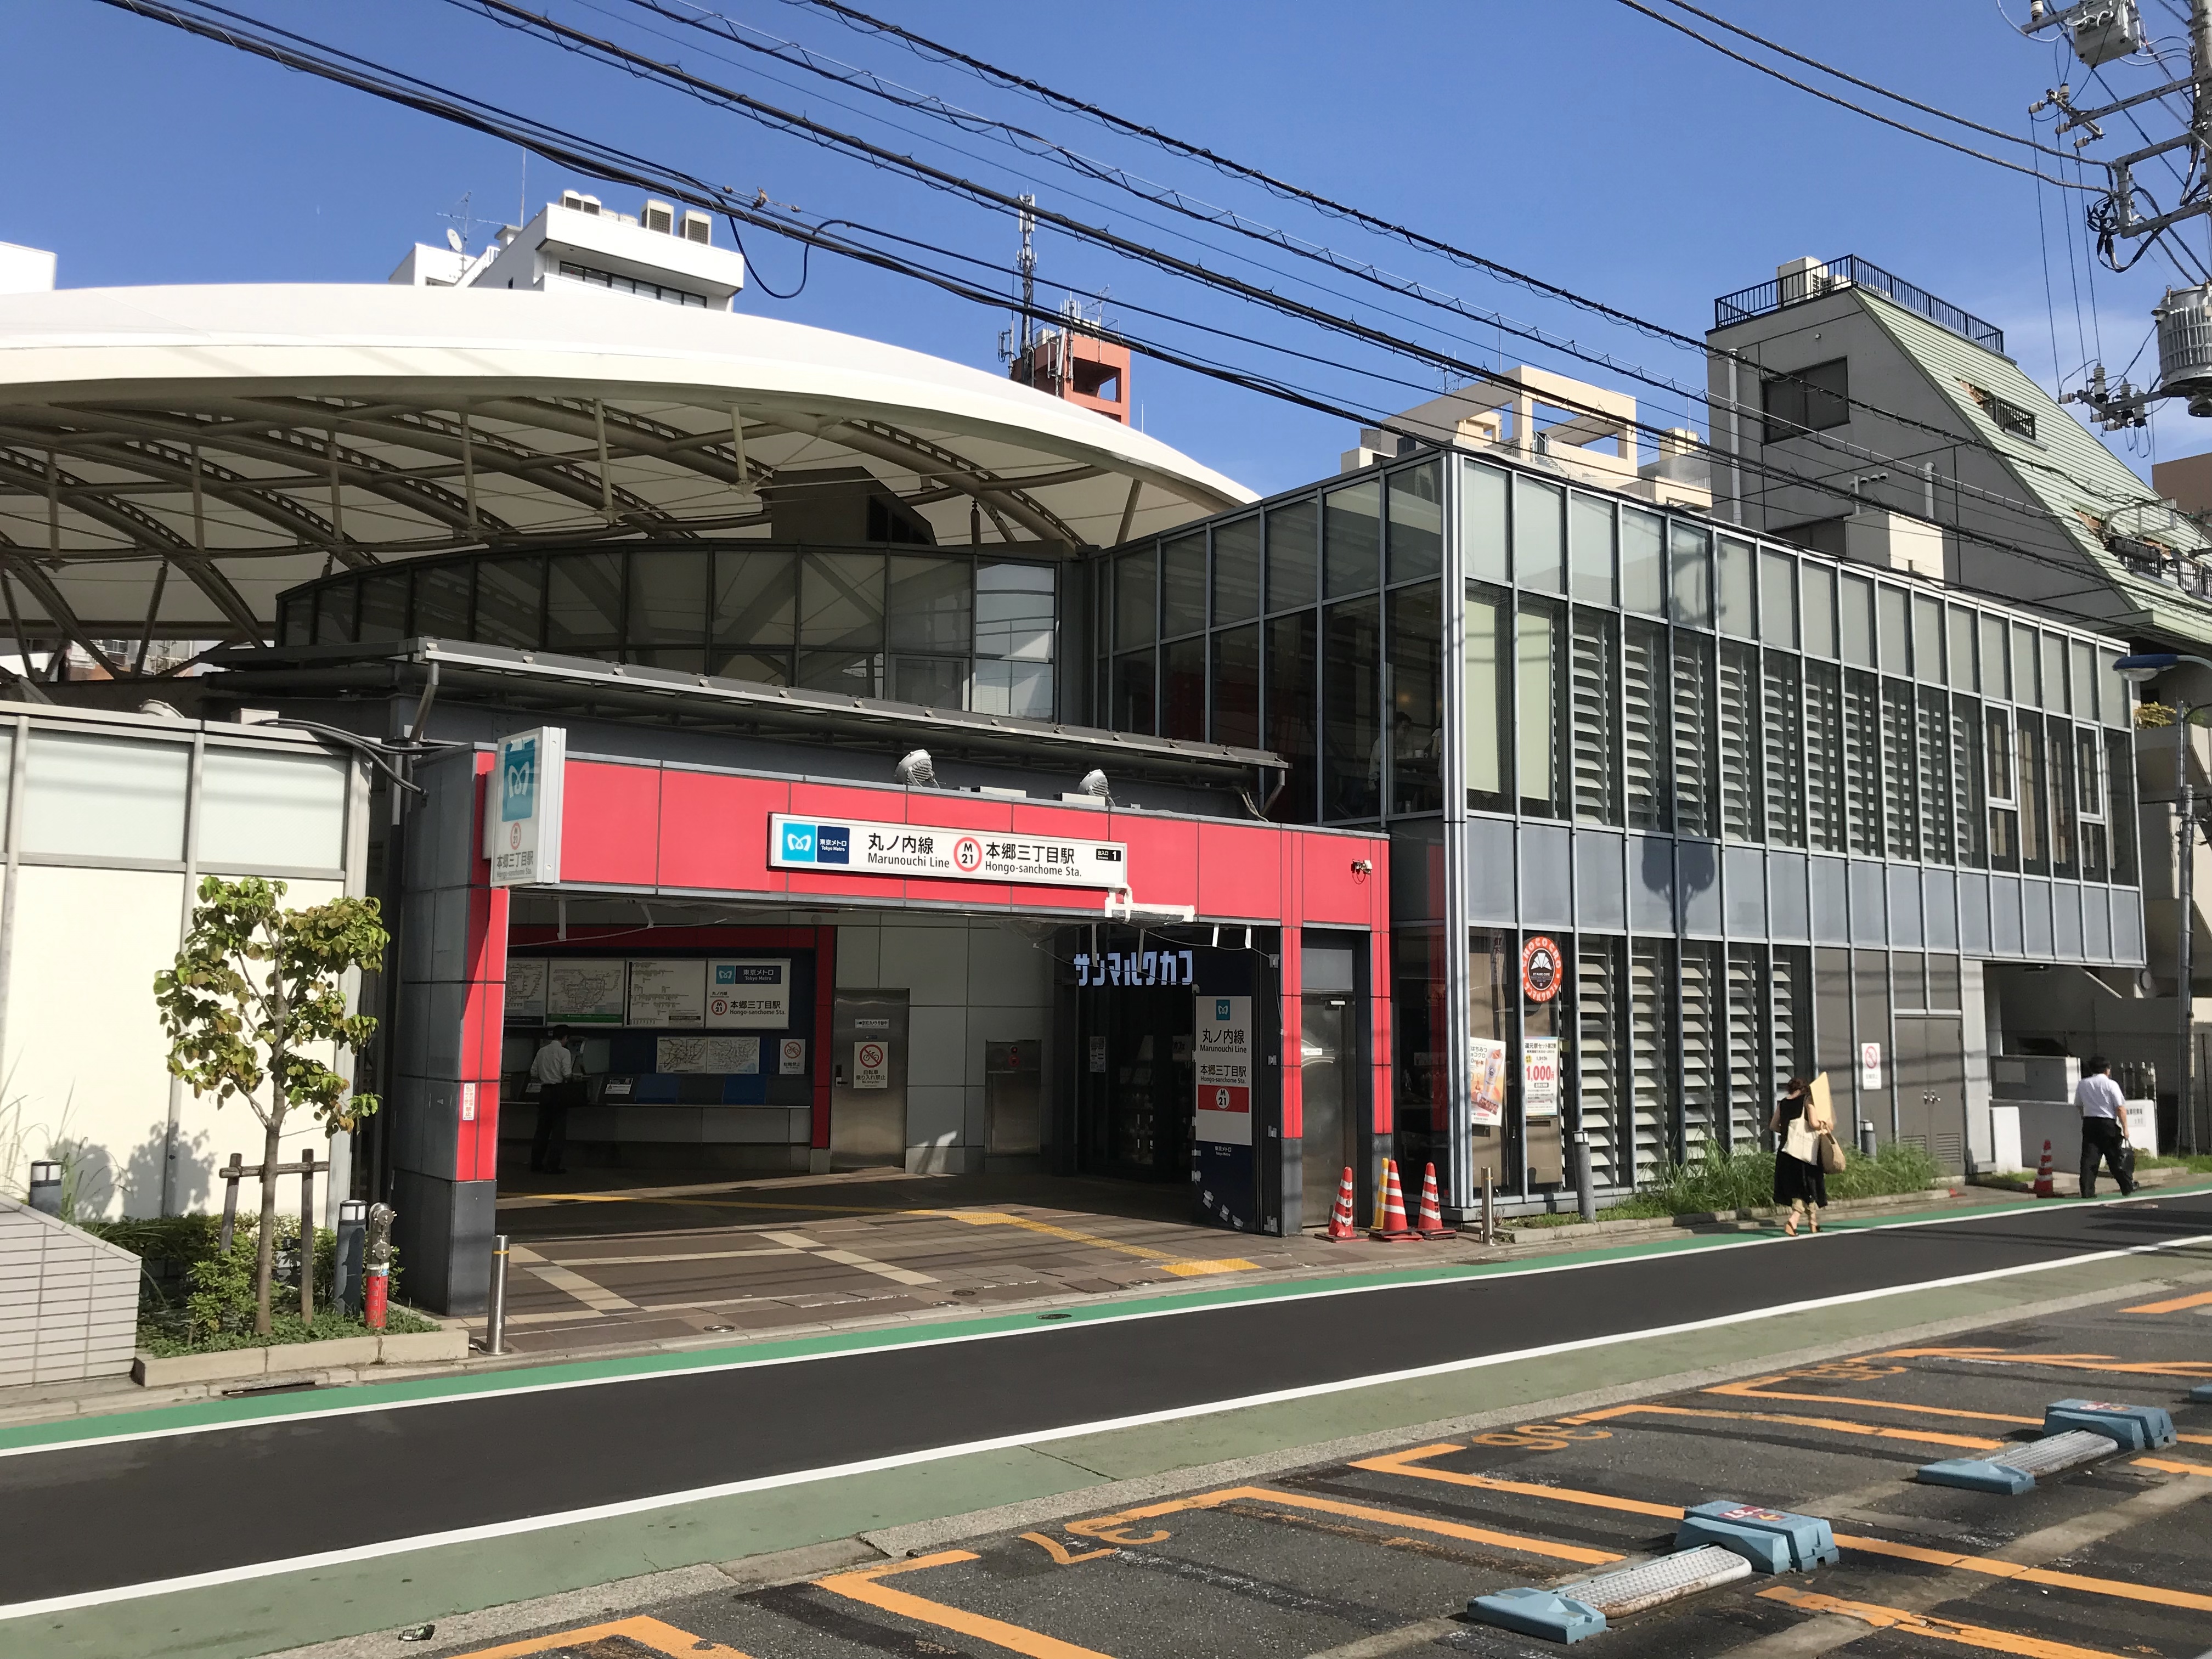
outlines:
[[980, 529], [1031, 555], [1252, 500], [1073, 403], [734, 312], [398, 285], [0, 296], [0, 566], [33, 633], [135, 637], [150, 615], [155, 637], [257, 637], [279, 591], [336, 566], [765, 538], [763, 484], [856, 467], [940, 544]]

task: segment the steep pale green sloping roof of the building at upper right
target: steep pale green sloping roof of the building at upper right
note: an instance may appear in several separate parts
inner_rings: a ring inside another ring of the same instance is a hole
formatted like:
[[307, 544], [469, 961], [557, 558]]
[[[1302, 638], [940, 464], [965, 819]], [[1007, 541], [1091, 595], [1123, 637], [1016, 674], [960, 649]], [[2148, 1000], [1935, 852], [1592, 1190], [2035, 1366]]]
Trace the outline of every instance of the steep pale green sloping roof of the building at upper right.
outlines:
[[[2088, 568], [2110, 582], [2112, 591], [2132, 611], [2141, 613], [2146, 630], [2190, 644], [2212, 644], [2212, 604], [2130, 571], [2086, 522], [2086, 518], [2104, 522], [2128, 507], [2157, 507], [2159, 498], [2150, 484], [2137, 478], [2119, 456], [2097, 442], [2079, 420], [2022, 374], [2020, 365], [2011, 358], [1973, 345], [1867, 288], [1851, 292], [1860, 296], [1867, 314], [1898, 343], [1898, 349], [1920, 365], [1929, 385], [1958, 409], [1966, 429], [2006, 462], [2020, 489], [2048, 509], [2051, 520], [2075, 542]], [[2015, 438], [2002, 431], [1989, 411], [1966, 392], [1969, 385], [2033, 414], [2037, 436]], [[2124, 515], [2115, 529], [2183, 551], [2212, 549], [2212, 538], [2179, 515], [2172, 522], [2150, 515], [2141, 526], [2130, 526]]]

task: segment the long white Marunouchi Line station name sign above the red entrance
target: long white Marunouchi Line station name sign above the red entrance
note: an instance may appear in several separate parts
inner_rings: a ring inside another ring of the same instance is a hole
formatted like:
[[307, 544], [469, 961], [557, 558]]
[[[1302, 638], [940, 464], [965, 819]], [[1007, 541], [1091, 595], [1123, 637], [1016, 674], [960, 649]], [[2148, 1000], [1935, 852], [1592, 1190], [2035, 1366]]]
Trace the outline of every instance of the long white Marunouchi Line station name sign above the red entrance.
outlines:
[[774, 869], [836, 869], [856, 876], [1128, 887], [1128, 847], [1119, 841], [1066, 841], [865, 818], [796, 818], [787, 812], [768, 814], [768, 863]]

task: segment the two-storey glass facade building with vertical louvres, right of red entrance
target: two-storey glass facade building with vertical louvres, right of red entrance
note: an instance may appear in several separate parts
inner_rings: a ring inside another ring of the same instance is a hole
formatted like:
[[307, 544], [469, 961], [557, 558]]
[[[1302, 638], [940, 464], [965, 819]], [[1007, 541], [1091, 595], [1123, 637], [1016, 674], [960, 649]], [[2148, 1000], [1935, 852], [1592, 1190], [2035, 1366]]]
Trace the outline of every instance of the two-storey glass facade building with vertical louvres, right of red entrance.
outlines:
[[1599, 1186], [1767, 1144], [1814, 1068], [1986, 1157], [1982, 964], [2143, 962], [2126, 646], [1540, 467], [1422, 451], [1099, 557], [1099, 723], [1389, 832], [1391, 1139], [1453, 1203], [1568, 1179], [1577, 1104]]

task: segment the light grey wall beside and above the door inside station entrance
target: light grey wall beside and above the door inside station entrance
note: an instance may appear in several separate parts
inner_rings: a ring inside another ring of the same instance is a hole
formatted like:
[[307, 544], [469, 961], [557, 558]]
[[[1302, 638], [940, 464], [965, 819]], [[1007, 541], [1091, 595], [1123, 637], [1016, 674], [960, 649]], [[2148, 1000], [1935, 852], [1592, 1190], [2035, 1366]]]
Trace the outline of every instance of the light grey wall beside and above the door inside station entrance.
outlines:
[[984, 1044], [1042, 1042], [1040, 1075], [1046, 1086], [1053, 1077], [1053, 973], [1044, 947], [987, 916], [845, 922], [836, 982], [907, 991], [907, 1168], [982, 1170]]

